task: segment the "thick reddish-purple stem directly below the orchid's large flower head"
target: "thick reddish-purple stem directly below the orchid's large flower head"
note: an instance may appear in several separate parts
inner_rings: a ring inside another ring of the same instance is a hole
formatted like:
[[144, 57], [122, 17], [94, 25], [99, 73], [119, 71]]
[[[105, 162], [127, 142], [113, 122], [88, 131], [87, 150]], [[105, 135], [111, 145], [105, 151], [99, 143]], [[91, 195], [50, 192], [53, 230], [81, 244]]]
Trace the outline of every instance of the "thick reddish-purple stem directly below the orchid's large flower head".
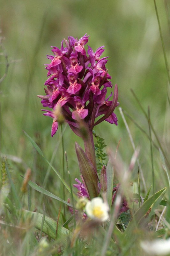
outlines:
[[90, 160], [90, 162], [92, 163], [94, 169], [97, 170], [92, 130], [89, 128], [89, 126], [87, 126], [86, 129], [87, 129], [86, 130], [87, 136], [83, 138], [84, 145], [85, 145], [85, 154]]

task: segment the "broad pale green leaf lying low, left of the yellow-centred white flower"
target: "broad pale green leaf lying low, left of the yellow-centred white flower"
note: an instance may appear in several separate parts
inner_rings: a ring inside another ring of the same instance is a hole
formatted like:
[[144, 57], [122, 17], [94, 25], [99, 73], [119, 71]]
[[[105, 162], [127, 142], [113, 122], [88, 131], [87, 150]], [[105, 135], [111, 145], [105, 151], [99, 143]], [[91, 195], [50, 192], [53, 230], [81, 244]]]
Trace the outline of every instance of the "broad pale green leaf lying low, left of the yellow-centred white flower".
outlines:
[[[38, 230], [41, 230], [41, 223], [43, 220], [43, 214], [38, 212], [30, 212], [26, 210], [22, 210], [22, 216], [23, 219], [28, 221], [30, 220], [33, 223], [34, 228], [37, 228]], [[53, 239], [56, 239], [56, 227], [57, 222], [47, 216], [45, 216], [44, 225], [42, 228], [42, 232], [47, 234]], [[57, 236], [60, 237], [62, 242], [64, 244], [67, 244], [67, 235], [70, 233], [70, 231], [64, 227], [62, 227], [60, 224], [58, 225], [57, 229]]]

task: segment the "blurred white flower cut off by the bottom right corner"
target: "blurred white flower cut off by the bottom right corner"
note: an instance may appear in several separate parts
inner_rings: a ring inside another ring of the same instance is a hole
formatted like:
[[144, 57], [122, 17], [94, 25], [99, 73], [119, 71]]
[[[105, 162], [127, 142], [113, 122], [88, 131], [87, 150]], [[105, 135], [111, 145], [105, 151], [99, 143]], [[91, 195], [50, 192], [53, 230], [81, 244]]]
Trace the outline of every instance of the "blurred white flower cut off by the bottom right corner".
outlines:
[[140, 245], [148, 255], [166, 256], [170, 253], [170, 238], [167, 240], [156, 239], [151, 242], [143, 241]]

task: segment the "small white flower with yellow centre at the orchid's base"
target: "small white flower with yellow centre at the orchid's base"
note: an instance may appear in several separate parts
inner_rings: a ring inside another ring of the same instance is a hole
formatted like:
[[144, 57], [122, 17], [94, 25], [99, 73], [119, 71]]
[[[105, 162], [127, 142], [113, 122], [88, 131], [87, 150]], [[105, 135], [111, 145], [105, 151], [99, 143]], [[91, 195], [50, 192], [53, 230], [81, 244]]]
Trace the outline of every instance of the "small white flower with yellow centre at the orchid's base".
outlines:
[[109, 218], [109, 207], [100, 197], [95, 197], [91, 201], [88, 201], [85, 206], [85, 210], [87, 216], [93, 220], [106, 221]]

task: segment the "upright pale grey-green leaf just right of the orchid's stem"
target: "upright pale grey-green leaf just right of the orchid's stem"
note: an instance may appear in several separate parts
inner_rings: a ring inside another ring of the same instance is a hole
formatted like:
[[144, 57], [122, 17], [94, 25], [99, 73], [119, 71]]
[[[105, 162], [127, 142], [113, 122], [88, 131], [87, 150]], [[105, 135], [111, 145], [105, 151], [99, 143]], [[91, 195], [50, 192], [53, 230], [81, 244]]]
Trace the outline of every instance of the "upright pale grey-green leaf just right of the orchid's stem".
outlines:
[[114, 168], [110, 162], [106, 166], [106, 176], [107, 176], [107, 202], [108, 204], [112, 205], [112, 193], [113, 193], [113, 180], [114, 180]]

